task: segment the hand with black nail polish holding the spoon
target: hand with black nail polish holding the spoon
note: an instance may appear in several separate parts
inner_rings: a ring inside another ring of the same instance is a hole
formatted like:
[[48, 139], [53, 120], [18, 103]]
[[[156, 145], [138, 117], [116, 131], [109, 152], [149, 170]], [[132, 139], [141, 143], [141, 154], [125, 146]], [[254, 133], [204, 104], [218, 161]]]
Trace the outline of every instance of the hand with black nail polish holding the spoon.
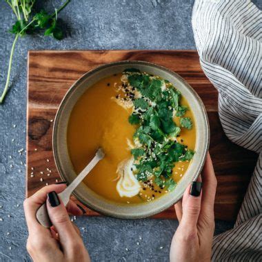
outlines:
[[[68, 212], [80, 215], [83, 211], [71, 200], [66, 208], [57, 196], [65, 188], [66, 184], [48, 185], [23, 202], [29, 232], [26, 248], [33, 261], [90, 261], [79, 229], [68, 216]], [[36, 217], [45, 201], [53, 224], [50, 229], [40, 225]]]

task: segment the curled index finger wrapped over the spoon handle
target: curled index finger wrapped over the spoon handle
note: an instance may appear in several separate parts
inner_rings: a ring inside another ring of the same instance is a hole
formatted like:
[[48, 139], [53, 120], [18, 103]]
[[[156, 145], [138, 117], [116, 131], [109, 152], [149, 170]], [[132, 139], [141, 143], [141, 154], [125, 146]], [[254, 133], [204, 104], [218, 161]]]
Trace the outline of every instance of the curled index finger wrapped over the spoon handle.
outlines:
[[28, 225], [28, 231], [30, 232], [49, 232], [49, 230], [43, 230], [43, 226], [37, 221], [36, 213], [37, 210], [41, 207], [46, 201], [46, 196], [48, 192], [57, 191], [62, 192], [66, 188], [66, 185], [48, 185], [41, 190], [34, 193], [32, 196], [28, 197], [23, 202], [23, 208], [26, 216], [26, 223]]

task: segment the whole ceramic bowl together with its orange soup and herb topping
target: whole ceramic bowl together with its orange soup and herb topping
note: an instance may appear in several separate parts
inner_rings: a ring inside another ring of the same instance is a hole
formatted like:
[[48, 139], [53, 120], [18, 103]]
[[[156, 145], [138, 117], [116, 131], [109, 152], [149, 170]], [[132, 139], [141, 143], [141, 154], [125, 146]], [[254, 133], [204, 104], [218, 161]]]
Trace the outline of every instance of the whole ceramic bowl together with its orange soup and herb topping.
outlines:
[[103, 148], [74, 196], [101, 214], [139, 219], [181, 199], [203, 168], [209, 139], [203, 102], [184, 79], [153, 63], [121, 61], [87, 72], [68, 90], [53, 151], [71, 183]]

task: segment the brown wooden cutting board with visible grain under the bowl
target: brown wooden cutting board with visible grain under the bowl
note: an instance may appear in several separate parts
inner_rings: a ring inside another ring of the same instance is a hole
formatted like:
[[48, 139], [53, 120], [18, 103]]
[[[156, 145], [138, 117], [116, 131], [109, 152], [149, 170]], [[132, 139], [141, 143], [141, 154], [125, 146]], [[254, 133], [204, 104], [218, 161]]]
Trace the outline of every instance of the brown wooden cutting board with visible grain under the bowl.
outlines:
[[[218, 181], [215, 217], [228, 221], [236, 219], [257, 156], [225, 137], [219, 122], [218, 93], [203, 74], [197, 52], [187, 50], [28, 52], [26, 196], [31, 196], [46, 183], [61, 181], [52, 154], [52, 126], [59, 103], [72, 83], [92, 68], [122, 60], [149, 61], [165, 66], [180, 74], [199, 94], [208, 111], [210, 154]], [[92, 210], [87, 214], [99, 215]], [[176, 218], [173, 207], [154, 217]]]

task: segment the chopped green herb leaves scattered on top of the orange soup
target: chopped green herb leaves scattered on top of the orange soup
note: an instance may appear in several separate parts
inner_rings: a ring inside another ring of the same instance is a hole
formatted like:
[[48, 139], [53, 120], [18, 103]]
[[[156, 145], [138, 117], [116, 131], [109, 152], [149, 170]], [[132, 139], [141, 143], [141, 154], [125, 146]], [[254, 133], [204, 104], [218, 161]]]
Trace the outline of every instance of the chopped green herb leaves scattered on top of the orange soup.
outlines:
[[[131, 150], [137, 179], [147, 181], [154, 176], [154, 183], [160, 188], [174, 190], [174, 163], [189, 161], [194, 155], [194, 151], [176, 139], [181, 128], [192, 128], [191, 119], [183, 117], [188, 108], [180, 104], [181, 92], [169, 81], [134, 68], [123, 74], [128, 76], [132, 88], [141, 93], [141, 98], [134, 99], [134, 110], [128, 119], [132, 125], [138, 126], [133, 139], [135, 144], [139, 141], [140, 146]], [[162, 90], [163, 85], [166, 88]], [[174, 115], [180, 117], [180, 127], [174, 123]]]

